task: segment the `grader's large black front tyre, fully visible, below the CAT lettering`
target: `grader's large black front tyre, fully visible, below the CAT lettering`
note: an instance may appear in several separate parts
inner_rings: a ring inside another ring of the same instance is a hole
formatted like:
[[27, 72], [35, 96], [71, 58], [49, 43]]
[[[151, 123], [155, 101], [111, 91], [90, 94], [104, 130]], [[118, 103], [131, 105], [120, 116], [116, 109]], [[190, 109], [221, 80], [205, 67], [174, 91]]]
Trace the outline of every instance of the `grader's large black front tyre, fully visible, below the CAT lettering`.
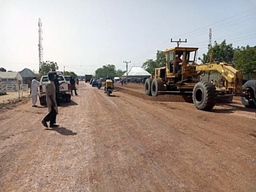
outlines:
[[198, 110], [210, 111], [217, 101], [216, 87], [208, 81], [200, 81], [193, 89], [193, 102]]

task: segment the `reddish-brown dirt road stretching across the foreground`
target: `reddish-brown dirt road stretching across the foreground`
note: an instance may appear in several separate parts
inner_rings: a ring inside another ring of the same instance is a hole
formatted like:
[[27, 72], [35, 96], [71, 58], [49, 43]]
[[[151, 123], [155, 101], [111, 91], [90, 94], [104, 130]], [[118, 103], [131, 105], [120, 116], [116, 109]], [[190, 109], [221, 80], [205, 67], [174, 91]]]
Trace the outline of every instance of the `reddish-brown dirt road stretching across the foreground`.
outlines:
[[57, 129], [31, 100], [0, 111], [0, 191], [256, 191], [255, 112], [239, 101], [203, 112], [84, 82], [78, 94]]

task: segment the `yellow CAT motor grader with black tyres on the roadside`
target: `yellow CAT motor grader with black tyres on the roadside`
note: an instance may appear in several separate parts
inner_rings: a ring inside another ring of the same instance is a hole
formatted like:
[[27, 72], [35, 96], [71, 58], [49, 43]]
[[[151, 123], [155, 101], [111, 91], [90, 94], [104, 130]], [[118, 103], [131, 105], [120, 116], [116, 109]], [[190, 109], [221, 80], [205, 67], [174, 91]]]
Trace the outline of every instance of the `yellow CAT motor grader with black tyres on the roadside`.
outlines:
[[[155, 74], [145, 81], [145, 94], [153, 97], [166, 93], [191, 93], [197, 109], [209, 111], [217, 98], [232, 101], [234, 95], [241, 96], [243, 73], [225, 62], [196, 63], [198, 48], [175, 47], [165, 50], [166, 67], [155, 69]], [[200, 75], [217, 71], [220, 78], [214, 83], [200, 80]], [[253, 81], [254, 82], [254, 81]], [[242, 102], [255, 108], [255, 87], [252, 82], [243, 87]], [[254, 82], [255, 84], [255, 82]]]

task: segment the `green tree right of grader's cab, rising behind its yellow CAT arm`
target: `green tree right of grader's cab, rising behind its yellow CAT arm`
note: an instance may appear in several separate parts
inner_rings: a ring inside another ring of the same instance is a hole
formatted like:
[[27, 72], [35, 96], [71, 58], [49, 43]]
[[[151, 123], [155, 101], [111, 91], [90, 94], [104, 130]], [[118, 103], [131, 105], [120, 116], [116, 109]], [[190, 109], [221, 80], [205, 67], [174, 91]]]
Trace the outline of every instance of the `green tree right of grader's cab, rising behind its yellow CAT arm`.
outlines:
[[[209, 46], [208, 46], [209, 47]], [[206, 54], [203, 54], [203, 58], [198, 58], [203, 63], [210, 62], [210, 54], [213, 53], [213, 62], [228, 62], [231, 63], [233, 61], [234, 51], [232, 44], [226, 44], [226, 40], [223, 40], [221, 44], [218, 44], [217, 41], [214, 42], [214, 46], [212, 46]]]

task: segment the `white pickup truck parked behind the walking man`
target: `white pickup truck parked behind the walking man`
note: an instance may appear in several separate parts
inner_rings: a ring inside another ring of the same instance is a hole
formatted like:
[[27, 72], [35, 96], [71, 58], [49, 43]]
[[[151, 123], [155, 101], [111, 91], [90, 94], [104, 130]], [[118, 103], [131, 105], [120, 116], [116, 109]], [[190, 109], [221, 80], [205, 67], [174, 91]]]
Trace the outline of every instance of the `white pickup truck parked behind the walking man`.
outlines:
[[[59, 99], [66, 99], [66, 102], [71, 101], [71, 86], [70, 83], [66, 82], [62, 75], [58, 76], [59, 80]], [[48, 83], [48, 76], [44, 75], [41, 77], [40, 82], [42, 83], [38, 88], [38, 95], [41, 105], [46, 104], [46, 84]]]

